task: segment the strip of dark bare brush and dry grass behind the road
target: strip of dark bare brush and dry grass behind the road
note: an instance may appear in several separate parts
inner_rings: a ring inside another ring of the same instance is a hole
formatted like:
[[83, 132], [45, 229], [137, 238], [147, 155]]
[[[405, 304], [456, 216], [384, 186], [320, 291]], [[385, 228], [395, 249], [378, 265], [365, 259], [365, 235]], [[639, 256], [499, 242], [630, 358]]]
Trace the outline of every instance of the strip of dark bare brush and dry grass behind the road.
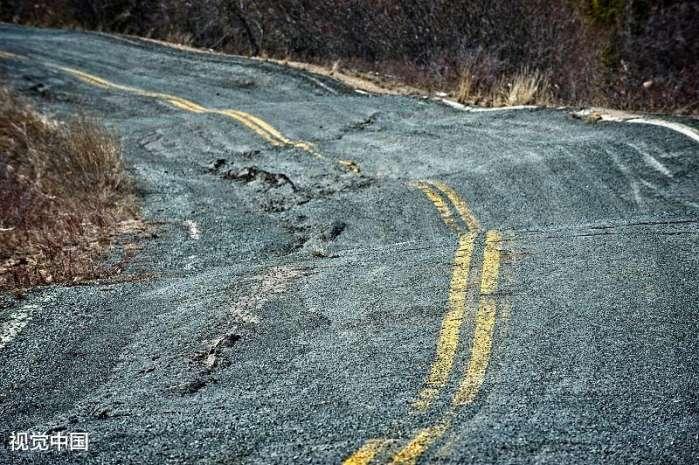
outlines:
[[699, 113], [692, 0], [5, 0], [0, 18], [322, 65], [464, 103]]

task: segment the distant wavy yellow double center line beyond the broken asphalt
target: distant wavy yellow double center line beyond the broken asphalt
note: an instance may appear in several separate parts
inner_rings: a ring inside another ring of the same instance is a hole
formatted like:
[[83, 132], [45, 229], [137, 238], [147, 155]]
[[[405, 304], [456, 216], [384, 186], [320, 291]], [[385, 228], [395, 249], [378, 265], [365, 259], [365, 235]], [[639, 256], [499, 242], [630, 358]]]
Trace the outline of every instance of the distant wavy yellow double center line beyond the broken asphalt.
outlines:
[[[25, 57], [0, 50], [0, 59], [25, 59]], [[117, 84], [102, 77], [95, 76], [94, 74], [86, 73], [85, 71], [81, 71], [79, 69], [69, 68], [67, 66], [54, 65], [51, 63], [45, 63], [45, 65], [50, 68], [58, 69], [60, 71], [63, 71], [64, 73], [70, 74], [71, 76], [79, 79], [80, 81], [95, 87], [99, 87], [100, 89], [128, 92], [142, 97], [153, 98], [165, 102], [170, 106], [190, 113], [207, 113], [231, 118], [239, 124], [246, 127], [247, 129], [249, 129], [250, 131], [257, 134], [258, 136], [260, 136], [262, 139], [264, 139], [271, 145], [294, 147], [303, 150], [304, 152], [309, 153], [320, 160], [332, 161], [341, 165], [349, 171], [359, 172], [359, 165], [357, 165], [357, 163], [355, 163], [354, 161], [329, 159], [323, 154], [321, 154], [312, 143], [299, 140], [291, 140], [288, 137], [284, 136], [284, 134], [282, 134], [278, 129], [274, 128], [266, 121], [258, 118], [257, 116], [251, 115], [250, 113], [245, 113], [239, 110], [221, 110], [216, 108], [207, 108], [196, 102], [187, 100], [176, 95], [165, 94], [161, 92], [151, 92], [139, 89], [137, 87]]]

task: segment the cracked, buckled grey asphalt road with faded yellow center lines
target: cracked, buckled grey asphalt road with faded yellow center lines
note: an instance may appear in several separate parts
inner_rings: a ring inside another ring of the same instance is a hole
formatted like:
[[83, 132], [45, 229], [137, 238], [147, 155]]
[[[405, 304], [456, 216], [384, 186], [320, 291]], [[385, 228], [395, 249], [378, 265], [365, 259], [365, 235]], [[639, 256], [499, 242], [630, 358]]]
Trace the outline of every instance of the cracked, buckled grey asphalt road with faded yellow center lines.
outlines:
[[130, 279], [5, 298], [0, 463], [699, 463], [691, 133], [97, 34], [0, 50], [120, 136], [153, 230]]

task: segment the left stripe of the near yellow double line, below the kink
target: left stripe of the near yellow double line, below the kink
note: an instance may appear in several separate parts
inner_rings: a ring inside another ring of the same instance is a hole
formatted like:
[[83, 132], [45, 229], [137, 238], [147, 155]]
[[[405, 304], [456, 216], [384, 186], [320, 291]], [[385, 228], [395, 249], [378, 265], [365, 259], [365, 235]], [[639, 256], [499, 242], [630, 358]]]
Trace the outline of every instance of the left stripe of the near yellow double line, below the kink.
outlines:
[[471, 268], [471, 255], [477, 233], [461, 234], [459, 246], [454, 256], [454, 268], [449, 288], [447, 312], [442, 319], [442, 327], [437, 339], [437, 350], [430, 374], [420, 389], [413, 408], [425, 411], [449, 381], [454, 366], [454, 358], [459, 345], [459, 334], [466, 313], [466, 291]]

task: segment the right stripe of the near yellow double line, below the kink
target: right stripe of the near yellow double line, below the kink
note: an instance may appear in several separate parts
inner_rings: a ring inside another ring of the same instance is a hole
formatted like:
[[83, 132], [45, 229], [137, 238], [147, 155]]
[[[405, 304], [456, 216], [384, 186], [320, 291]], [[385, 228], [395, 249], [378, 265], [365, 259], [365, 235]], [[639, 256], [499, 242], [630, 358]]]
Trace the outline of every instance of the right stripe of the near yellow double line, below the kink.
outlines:
[[476, 324], [471, 342], [471, 358], [468, 368], [459, 385], [452, 403], [468, 405], [474, 401], [485, 379], [485, 372], [490, 361], [493, 347], [493, 329], [495, 328], [496, 308], [493, 293], [497, 290], [500, 269], [500, 251], [502, 236], [497, 231], [488, 231], [483, 253], [483, 272], [481, 275], [481, 298], [476, 313]]

